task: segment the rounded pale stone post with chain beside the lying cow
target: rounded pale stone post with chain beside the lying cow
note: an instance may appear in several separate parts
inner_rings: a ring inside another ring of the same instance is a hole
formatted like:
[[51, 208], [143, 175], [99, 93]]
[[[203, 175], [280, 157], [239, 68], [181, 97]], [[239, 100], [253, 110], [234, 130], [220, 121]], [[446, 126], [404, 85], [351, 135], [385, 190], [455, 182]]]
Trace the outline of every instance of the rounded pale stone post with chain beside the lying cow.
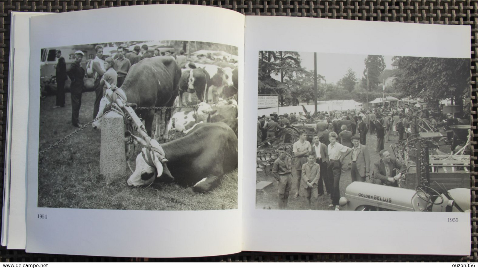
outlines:
[[99, 173], [106, 179], [116, 179], [126, 174], [124, 132], [121, 115], [110, 112], [101, 119]]

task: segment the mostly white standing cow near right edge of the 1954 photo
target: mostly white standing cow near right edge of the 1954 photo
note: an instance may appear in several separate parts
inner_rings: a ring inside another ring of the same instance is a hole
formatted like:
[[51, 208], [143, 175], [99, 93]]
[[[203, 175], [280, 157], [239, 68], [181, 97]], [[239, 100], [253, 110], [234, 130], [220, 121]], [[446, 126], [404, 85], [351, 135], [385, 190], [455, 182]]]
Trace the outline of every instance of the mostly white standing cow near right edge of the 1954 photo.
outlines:
[[205, 69], [209, 74], [209, 85], [206, 90], [206, 102], [215, 102], [219, 97], [223, 97], [223, 90], [225, 87], [234, 86], [232, 81], [232, 69], [231, 68], [221, 68], [212, 64], [198, 64], [198, 63], [188, 63], [185, 64], [185, 68]]

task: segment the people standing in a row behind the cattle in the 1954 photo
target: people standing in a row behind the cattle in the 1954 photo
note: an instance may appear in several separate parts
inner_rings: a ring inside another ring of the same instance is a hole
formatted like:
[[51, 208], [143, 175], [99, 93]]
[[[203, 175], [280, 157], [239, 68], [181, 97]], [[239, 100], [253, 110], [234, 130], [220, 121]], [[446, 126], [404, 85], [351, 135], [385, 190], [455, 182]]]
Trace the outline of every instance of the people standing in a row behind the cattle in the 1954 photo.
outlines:
[[[61, 50], [56, 51], [58, 63], [56, 65], [56, 103], [54, 108], [65, 107], [65, 81], [69, 77], [71, 80], [71, 106], [72, 117], [71, 122], [74, 127], [81, 128], [82, 124], [79, 121], [79, 111], [81, 107], [81, 96], [85, 90], [84, 77], [94, 79], [94, 89], [96, 92], [95, 104], [93, 106], [93, 118], [98, 114], [99, 103], [104, 96], [109, 85], [120, 87], [132, 65], [137, 64], [142, 59], [151, 58], [154, 56], [170, 56], [176, 60], [177, 64], [185, 64], [187, 58], [183, 50], [175, 55], [175, 52], [170, 50], [161, 52], [156, 48], [153, 53], [150, 53], [149, 47], [143, 44], [141, 47], [135, 45], [132, 51], [128, 51], [127, 47], [119, 46], [114, 56], [103, 55], [103, 45], [95, 46], [95, 58], [87, 64], [86, 70], [81, 66], [84, 52], [78, 50], [75, 52], [75, 61], [66, 68], [65, 58], [61, 54]], [[105, 83], [107, 82], [107, 83]]]

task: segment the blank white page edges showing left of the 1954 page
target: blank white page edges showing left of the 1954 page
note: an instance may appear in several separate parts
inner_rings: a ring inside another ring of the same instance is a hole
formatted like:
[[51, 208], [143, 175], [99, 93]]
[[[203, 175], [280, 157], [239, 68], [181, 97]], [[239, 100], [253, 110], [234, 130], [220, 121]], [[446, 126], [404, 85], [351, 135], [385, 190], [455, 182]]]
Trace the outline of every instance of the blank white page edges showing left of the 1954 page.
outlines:
[[[2, 217], [2, 246], [24, 249], [26, 242], [26, 143], [28, 127], [28, 73], [30, 36], [25, 28], [32, 16], [47, 13], [12, 12], [11, 61], [7, 117], [5, 187]], [[25, 101], [26, 100], [26, 101]], [[15, 113], [12, 112], [15, 107]], [[12, 150], [13, 148], [13, 150]]]

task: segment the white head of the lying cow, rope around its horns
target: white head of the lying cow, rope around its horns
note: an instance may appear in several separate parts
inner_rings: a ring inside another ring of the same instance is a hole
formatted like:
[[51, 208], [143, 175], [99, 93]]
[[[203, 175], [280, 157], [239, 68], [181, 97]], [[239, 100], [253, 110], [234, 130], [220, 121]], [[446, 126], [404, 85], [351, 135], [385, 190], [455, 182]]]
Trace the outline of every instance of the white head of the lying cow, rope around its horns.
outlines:
[[131, 135], [130, 133], [128, 134], [132, 137], [134, 144], [143, 147], [138, 156], [136, 156], [136, 168], [128, 178], [128, 185], [149, 185], [154, 182], [155, 178], [161, 177], [163, 173], [168, 175], [171, 179], [174, 179], [167, 169], [166, 164], [161, 162], [161, 155], [157, 151], [150, 150], [150, 145], [148, 145], [144, 139]]

